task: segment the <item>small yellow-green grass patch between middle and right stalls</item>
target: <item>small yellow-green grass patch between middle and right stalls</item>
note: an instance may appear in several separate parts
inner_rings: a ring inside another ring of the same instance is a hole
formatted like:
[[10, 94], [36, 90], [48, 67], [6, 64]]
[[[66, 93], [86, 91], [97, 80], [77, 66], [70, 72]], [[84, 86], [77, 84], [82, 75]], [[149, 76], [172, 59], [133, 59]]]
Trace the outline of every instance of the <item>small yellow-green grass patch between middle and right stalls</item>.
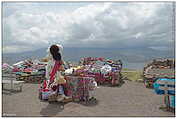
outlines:
[[137, 81], [138, 79], [143, 79], [142, 71], [137, 71], [137, 70], [132, 70], [132, 69], [131, 70], [123, 69], [122, 75], [123, 77], [126, 77], [128, 80], [131, 80], [131, 81]]

